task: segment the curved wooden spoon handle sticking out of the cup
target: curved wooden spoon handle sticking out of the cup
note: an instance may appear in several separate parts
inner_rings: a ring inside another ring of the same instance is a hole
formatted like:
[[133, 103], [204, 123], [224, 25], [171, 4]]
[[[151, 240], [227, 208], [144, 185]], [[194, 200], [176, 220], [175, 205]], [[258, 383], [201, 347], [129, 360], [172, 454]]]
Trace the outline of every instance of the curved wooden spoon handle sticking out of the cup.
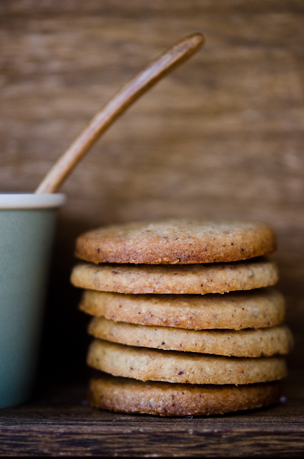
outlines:
[[155, 85], [176, 65], [195, 53], [204, 43], [204, 40], [202, 33], [186, 36], [136, 75], [95, 115], [90, 124], [45, 176], [35, 193], [54, 193], [100, 134], [141, 94]]

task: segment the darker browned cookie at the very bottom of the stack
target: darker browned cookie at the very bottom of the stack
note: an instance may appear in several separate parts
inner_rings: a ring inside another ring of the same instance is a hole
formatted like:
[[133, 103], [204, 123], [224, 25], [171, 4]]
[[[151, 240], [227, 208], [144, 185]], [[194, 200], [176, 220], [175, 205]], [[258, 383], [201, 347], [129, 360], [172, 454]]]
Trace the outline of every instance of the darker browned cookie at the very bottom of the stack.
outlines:
[[280, 383], [242, 386], [139, 381], [101, 373], [93, 377], [89, 402], [96, 408], [160, 416], [223, 414], [279, 401]]

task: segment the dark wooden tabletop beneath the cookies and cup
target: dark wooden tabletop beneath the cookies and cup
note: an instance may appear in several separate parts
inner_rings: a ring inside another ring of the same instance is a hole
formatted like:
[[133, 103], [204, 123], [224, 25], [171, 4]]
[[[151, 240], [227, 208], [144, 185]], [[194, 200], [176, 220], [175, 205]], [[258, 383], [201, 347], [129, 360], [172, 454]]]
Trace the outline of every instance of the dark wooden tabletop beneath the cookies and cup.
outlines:
[[92, 409], [85, 386], [45, 391], [0, 411], [2, 456], [303, 456], [303, 377], [285, 382], [286, 400], [218, 416], [157, 417]]

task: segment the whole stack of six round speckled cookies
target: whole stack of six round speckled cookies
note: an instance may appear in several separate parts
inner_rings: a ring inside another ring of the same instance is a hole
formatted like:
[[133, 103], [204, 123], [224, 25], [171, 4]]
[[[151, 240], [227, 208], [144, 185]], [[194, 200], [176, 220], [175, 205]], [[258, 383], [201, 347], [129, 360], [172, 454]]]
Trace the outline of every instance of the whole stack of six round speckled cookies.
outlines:
[[279, 400], [292, 345], [272, 228], [165, 221], [80, 236], [71, 282], [93, 317], [92, 406], [161, 416]]

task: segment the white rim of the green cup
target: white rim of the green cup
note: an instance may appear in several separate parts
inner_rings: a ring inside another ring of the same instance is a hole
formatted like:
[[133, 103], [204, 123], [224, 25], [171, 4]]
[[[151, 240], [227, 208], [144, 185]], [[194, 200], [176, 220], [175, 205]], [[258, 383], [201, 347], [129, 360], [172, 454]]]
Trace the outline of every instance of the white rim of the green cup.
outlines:
[[0, 193], [1, 209], [48, 209], [62, 206], [66, 201], [63, 193]]

